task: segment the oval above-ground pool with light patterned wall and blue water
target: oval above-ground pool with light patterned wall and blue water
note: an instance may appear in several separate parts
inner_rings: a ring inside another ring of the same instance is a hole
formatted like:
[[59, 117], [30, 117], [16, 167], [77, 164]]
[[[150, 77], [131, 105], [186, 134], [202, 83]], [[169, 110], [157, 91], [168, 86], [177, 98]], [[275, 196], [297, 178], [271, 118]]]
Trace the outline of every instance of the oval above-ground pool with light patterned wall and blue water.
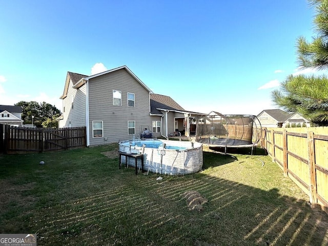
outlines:
[[[184, 175], [195, 173], [203, 166], [202, 144], [189, 141], [133, 139], [119, 142], [119, 151], [144, 154], [144, 171], [159, 174]], [[122, 162], [125, 163], [125, 156]], [[135, 166], [133, 158], [129, 166]], [[141, 163], [138, 160], [138, 167]]]

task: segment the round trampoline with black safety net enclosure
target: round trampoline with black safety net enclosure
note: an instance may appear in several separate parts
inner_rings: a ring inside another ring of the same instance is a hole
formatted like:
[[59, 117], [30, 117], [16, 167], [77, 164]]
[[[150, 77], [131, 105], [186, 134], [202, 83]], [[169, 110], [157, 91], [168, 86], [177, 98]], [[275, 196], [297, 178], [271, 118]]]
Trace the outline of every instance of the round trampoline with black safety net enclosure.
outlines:
[[222, 115], [211, 113], [202, 116], [196, 126], [196, 141], [209, 148], [252, 148], [257, 146], [261, 124], [255, 115]]

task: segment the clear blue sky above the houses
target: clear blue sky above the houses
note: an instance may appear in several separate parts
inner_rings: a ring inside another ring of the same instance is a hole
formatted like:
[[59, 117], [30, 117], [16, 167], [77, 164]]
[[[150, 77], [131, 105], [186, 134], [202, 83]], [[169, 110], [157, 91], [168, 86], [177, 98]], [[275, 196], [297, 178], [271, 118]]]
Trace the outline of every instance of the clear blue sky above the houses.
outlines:
[[[258, 114], [315, 35], [305, 0], [2, 1], [0, 104], [61, 108], [67, 71], [127, 65], [186, 110]], [[306, 72], [306, 71], [304, 71]]]

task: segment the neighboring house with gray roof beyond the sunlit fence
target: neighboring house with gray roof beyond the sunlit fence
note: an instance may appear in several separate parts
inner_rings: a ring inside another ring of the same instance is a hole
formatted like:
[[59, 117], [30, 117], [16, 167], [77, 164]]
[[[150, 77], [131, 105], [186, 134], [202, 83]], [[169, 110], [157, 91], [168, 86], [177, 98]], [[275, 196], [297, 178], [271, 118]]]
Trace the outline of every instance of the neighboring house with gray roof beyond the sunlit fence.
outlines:
[[300, 116], [298, 113], [288, 113], [281, 109], [266, 109], [257, 115], [262, 127], [286, 127], [287, 124], [300, 123], [303, 126], [310, 126], [310, 121]]

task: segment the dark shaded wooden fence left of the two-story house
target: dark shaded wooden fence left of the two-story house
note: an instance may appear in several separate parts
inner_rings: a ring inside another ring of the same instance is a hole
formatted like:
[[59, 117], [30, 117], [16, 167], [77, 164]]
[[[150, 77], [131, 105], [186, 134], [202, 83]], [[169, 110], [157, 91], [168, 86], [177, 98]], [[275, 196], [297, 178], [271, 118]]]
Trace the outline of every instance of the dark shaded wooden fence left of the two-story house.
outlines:
[[0, 125], [1, 152], [21, 154], [86, 147], [86, 127], [43, 129]]

